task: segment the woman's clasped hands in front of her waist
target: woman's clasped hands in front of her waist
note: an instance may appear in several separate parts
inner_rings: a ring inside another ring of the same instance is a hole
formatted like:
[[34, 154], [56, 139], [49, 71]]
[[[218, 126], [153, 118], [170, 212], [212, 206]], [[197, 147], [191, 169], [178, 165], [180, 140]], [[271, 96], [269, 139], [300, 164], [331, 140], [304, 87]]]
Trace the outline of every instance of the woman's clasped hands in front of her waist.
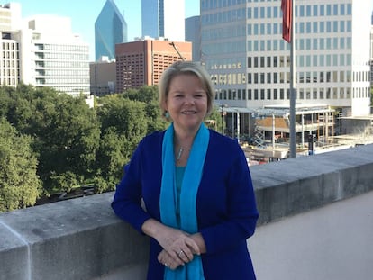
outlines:
[[170, 269], [184, 266], [193, 260], [193, 256], [200, 255], [196, 241], [182, 230], [166, 228], [157, 239], [163, 250], [158, 255], [158, 261]]

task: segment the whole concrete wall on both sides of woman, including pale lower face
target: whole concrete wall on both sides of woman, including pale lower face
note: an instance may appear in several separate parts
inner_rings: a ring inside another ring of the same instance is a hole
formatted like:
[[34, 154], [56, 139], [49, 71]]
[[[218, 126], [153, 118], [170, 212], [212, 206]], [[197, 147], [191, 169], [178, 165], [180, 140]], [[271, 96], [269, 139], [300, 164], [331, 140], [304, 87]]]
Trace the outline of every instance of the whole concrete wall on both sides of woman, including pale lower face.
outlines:
[[[251, 167], [259, 280], [371, 279], [373, 145]], [[113, 193], [0, 214], [0, 280], [145, 279], [149, 239]]]

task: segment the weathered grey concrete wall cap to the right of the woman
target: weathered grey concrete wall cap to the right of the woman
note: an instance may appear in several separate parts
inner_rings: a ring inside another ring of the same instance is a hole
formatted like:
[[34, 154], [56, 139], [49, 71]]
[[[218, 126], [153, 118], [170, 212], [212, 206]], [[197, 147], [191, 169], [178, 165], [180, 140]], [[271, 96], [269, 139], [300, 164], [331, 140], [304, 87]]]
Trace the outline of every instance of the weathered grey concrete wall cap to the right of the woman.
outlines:
[[259, 225], [373, 190], [373, 145], [251, 167]]

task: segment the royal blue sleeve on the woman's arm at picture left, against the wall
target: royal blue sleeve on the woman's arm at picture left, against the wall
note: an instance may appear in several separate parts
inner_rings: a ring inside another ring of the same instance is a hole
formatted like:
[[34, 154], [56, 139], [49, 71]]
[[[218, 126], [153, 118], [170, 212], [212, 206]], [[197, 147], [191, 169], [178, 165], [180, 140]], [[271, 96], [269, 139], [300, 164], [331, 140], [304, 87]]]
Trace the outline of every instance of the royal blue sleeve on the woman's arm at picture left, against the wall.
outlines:
[[142, 224], [150, 214], [141, 207], [141, 143], [133, 153], [131, 161], [124, 167], [124, 176], [116, 186], [112, 208], [115, 214], [129, 222], [141, 233]]

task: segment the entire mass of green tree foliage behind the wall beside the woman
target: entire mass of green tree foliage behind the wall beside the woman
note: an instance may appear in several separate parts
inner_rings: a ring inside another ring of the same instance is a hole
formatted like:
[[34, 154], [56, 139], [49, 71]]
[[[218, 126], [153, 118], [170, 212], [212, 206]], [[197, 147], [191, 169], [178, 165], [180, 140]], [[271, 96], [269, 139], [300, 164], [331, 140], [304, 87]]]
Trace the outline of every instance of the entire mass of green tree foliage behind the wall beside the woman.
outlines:
[[[80, 185], [95, 185], [96, 193], [114, 190], [139, 141], [168, 126], [156, 86], [106, 95], [95, 104], [91, 109], [83, 97], [51, 88], [0, 87], [0, 212], [32, 205], [41, 191]], [[209, 118], [221, 120], [218, 112]]]

